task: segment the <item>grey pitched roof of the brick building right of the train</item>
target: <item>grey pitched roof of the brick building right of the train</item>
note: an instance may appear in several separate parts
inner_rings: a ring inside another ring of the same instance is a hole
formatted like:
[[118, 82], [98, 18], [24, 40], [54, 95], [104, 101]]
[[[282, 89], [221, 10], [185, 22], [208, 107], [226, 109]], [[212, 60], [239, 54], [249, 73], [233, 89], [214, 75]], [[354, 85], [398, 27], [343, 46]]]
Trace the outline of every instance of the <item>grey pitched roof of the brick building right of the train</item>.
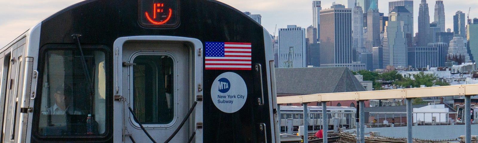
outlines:
[[277, 68], [278, 95], [365, 91], [347, 67]]

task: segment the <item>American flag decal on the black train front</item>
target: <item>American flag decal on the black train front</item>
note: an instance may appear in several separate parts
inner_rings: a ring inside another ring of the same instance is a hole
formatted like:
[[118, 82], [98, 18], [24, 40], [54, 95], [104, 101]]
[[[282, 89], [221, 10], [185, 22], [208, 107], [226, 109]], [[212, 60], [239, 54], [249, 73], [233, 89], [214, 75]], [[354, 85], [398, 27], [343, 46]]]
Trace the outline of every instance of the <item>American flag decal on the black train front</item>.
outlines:
[[251, 44], [206, 42], [206, 70], [251, 70]]

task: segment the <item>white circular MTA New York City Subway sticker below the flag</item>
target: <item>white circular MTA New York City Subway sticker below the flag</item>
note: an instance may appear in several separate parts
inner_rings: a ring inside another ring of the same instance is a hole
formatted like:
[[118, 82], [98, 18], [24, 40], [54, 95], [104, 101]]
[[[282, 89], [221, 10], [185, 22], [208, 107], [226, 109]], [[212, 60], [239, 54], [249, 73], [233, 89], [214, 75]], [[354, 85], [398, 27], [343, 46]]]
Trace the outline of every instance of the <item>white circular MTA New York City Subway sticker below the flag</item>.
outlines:
[[224, 72], [212, 83], [211, 98], [222, 112], [237, 112], [247, 99], [246, 82], [237, 73]]

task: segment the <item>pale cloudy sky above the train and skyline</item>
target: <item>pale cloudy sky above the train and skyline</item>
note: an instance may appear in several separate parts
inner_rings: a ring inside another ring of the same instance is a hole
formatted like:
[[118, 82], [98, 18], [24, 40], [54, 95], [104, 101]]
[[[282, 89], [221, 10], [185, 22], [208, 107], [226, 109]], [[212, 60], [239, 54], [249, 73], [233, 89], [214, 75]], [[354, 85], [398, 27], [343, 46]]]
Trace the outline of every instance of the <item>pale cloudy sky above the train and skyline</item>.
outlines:
[[[0, 47], [17, 38], [44, 18], [69, 5], [83, 0], [0, 0]], [[312, 25], [312, 0], [219, 0], [240, 11], [261, 14], [262, 26], [274, 34], [287, 25], [307, 28]], [[321, 0], [322, 9], [328, 9], [335, 0]], [[379, 11], [388, 13], [388, 2], [378, 0]], [[417, 31], [418, 9], [421, 0], [413, 1], [414, 31]], [[430, 22], [434, 19], [435, 0], [427, 0]], [[478, 0], [443, 0], [445, 5], [445, 28], [453, 31], [453, 15], [457, 10], [468, 13], [470, 18], [478, 17]], [[277, 34], [276, 34], [277, 35]]]

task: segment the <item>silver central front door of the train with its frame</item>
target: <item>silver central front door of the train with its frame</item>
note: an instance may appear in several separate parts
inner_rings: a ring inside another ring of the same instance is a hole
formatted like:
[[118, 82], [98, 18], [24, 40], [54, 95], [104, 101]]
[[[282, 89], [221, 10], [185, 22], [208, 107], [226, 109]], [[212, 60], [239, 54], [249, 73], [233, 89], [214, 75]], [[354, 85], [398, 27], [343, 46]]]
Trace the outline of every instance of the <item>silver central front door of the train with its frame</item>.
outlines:
[[[198, 44], [200, 41], [195, 39], [165, 36], [138, 36], [115, 41], [115, 45], [120, 45], [115, 46], [119, 48], [115, 60], [119, 89], [115, 95], [124, 100], [114, 103], [114, 130], [123, 130], [125, 142], [132, 142], [128, 136], [136, 142], [149, 142], [139, 123], [156, 142], [164, 142], [187, 118], [196, 95], [202, 95], [201, 89], [195, 86], [202, 76], [197, 73], [202, 66], [195, 63], [201, 56], [198, 47], [202, 46]], [[201, 106], [196, 106], [197, 113]], [[188, 141], [195, 132], [195, 117], [188, 118], [172, 143]]]

